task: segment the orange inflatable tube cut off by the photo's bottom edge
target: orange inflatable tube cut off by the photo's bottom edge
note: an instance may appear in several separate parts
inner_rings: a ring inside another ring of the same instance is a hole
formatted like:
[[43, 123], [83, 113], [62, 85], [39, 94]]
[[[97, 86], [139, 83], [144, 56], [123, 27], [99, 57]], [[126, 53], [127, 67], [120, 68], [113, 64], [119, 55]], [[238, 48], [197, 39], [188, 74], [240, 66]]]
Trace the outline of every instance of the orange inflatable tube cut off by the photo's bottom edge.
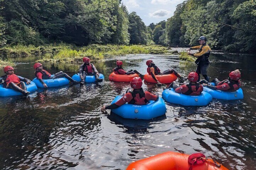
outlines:
[[[189, 155], [177, 152], [165, 152], [131, 163], [126, 170], [189, 170]], [[218, 162], [217, 162], [218, 163]], [[228, 170], [223, 165], [218, 168], [211, 159], [193, 165], [193, 170]]]

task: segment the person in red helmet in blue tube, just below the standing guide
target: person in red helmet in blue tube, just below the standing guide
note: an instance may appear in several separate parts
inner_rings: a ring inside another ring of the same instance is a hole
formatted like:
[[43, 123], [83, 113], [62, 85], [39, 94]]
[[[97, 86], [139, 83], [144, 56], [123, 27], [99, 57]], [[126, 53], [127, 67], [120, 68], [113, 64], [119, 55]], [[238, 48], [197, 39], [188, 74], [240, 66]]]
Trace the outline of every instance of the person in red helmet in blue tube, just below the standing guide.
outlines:
[[[191, 72], [188, 74], [189, 83], [179, 86], [177, 82], [172, 82], [168, 88], [173, 88], [176, 93], [190, 96], [199, 96], [203, 91], [203, 86], [197, 83], [198, 74]], [[164, 88], [165, 90], [166, 88]]]

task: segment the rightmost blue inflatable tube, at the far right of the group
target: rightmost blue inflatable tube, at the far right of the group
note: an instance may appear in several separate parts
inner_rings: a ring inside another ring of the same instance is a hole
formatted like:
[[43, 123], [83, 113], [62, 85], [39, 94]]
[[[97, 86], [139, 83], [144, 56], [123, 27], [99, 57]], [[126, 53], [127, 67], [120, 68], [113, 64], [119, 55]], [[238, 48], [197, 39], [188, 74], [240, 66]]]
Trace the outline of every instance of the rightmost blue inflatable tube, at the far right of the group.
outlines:
[[[215, 83], [211, 83], [215, 86]], [[203, 87], [203, 91], [211, 94], [214, 99], [222, 99], [222, 100], [239, 100], [244, 98], [242, 88], [239, 88], [237, 91], [229, 92], [229, 91], [220, 91], [220, 90], [213, 90], [206, 86]]]

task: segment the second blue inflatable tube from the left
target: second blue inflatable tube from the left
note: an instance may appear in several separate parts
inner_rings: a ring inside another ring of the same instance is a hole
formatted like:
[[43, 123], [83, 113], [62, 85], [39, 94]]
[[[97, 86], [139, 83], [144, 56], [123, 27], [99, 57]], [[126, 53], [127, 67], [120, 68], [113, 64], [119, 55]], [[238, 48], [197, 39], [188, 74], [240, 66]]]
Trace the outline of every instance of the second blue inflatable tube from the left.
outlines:
[[[51, 77], [53, 77], [53, 76], [54, 75], [51, 75]], [[43, 84], [39, 81], [39, 79], [34, 78], [32, 81], [37, 85], [37, 87], [44, 88]], [[45, 84], [48, 87], [60, 87], [62, 85], [69, 84], [69, 80], [65, 77], [61, 77], [61, 78], [57, 78], [57, 79], [43, 79], [43, 81], [45, 82]]]

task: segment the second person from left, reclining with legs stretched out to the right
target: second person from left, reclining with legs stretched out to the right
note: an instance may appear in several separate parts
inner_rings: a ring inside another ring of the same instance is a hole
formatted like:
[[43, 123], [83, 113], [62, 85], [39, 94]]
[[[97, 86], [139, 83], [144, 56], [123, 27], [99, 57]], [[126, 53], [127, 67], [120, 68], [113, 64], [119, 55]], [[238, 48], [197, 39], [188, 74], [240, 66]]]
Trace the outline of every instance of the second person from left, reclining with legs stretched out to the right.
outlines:
[[39, 81], [43, 84], [44, 88], [47, 88], [47, 85], [45, 84], [45, 82], [43, 81], [43, 79], [58, 79], [61, 77], [65, 77], [67, 78], [69, 81], [71, 81], [73, 84], [78, 84], [78, 81], [73, 80], [69, 75], [67, 75], [66, 73], [63, 73], [63, 71], [60, 71], [56, 74], [54, 74], [53, 77], [51, 77], [51, 73], [49, 73], [46, 70], [43, 70], [43, 65], [41, 63], [35, 63], [34, 64], [34, 69], [35, 71], [35, 76], [37, 79], [39, 79]]

